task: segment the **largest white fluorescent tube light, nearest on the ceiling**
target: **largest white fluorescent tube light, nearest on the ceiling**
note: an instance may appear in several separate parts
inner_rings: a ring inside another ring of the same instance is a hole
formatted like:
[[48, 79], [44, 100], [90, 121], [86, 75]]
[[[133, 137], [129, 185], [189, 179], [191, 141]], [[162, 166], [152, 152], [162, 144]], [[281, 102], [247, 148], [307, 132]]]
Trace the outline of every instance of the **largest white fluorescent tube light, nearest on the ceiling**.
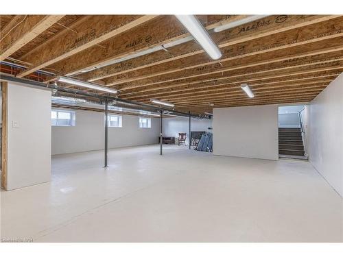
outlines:
[[176, 18], [186, 27], [193, 38], [202, 46], [204, 51], [213, 59], [222, 57], [220, 49], [215, 45], [206, 29], [194, 15], [176, 15]]

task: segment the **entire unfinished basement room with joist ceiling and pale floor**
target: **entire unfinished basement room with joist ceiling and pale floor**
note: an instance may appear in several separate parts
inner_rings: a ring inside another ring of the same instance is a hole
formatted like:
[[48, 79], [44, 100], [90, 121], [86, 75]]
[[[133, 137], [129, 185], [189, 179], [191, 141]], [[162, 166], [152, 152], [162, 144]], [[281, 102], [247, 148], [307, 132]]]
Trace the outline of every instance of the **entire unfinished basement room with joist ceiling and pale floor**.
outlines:
[[225, 10], [0, 15], [3, 243], [343, 243], [343, 15]]

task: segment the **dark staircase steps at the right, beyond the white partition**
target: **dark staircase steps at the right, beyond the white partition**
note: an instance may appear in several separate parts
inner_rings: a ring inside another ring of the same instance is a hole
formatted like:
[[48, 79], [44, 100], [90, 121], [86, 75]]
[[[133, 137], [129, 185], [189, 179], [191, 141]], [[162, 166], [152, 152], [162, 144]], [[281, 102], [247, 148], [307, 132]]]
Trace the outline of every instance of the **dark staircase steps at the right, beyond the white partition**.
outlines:
[[300, 128], [279, 127], [279, 155], [305, 156]]

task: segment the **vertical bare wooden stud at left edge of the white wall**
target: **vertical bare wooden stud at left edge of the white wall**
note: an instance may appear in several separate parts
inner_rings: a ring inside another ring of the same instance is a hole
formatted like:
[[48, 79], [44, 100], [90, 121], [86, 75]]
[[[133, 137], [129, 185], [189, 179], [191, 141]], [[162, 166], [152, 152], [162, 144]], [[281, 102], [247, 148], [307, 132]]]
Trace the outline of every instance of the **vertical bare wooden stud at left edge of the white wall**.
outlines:
[[7, 190], [7, 106], [8, 106], [8, 83], [1, 82], [2, 97], [2, 125], [1, 125], [1, 188]]

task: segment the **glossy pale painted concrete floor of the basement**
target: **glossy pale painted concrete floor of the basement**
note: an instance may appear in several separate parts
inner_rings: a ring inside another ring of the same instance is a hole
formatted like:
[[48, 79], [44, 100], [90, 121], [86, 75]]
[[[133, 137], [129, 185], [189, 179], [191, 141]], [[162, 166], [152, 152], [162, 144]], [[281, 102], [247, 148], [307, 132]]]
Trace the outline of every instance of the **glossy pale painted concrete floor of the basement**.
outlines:
[[158, 145], [52, 158], [1, 192], [1, 238], [35, 242], [342, 242], [343, 200], [309, 162]]

